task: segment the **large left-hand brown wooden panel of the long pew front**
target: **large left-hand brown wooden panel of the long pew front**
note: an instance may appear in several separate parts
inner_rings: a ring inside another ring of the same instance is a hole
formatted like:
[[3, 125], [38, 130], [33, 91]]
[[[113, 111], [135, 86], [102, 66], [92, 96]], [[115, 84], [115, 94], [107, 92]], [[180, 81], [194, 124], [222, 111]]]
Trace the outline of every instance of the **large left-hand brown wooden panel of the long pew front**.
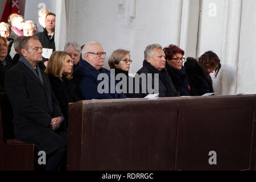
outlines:
[[82, 169], [173, 170], [177, 111], [156, 106], [86, 106]]

